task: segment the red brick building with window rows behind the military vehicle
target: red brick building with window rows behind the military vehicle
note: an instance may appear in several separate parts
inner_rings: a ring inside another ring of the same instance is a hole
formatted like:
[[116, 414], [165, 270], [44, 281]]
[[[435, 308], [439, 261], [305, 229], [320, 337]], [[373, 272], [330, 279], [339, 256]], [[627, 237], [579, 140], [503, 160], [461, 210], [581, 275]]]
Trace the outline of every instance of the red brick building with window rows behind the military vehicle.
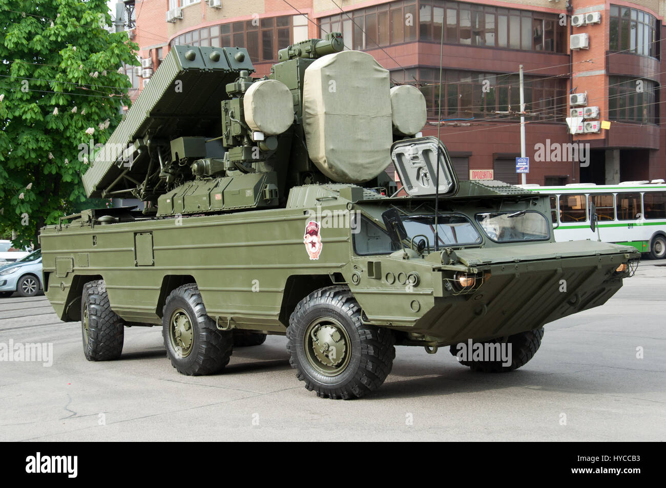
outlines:
[[[666, 0], [126, 0], [125, 5], [133, 10], [131, 37], [139, 55], [151, 60], [142, 77], [128, 71], [137, 89], [149, 83], [151, 69], [176, 44], [246, 47], [256, 75], [266, 75], [278, 49], [337, 31], [346, 47], [376, 57], [394, 83], [421, 89], [428, 103], [424, 134], [437, 133], [441, 110], [441, 138], [460, 178], [492, 172], [496, 179], [519, 181], [519, 65], [525, 71], [528, 183], [666, 178], [666, 125], [660, 117]], [[581, 105], [572, 105], [571, 95], [579, 95], [575, 101]], [[572, 109], [584, 114], [585, 107], [592, 107], [589, 118], [570, 119]]]

